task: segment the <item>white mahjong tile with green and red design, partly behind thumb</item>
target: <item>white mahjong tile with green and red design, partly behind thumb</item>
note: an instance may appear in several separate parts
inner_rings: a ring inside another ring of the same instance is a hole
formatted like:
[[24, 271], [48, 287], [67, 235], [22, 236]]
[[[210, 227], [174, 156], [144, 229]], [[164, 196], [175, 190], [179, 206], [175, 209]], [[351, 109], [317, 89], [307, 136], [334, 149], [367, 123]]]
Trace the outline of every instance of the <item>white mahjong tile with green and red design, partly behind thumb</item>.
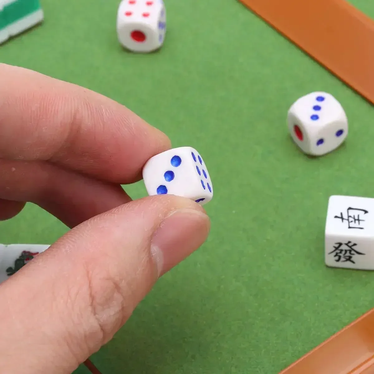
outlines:
[[0, 244], [0, 283], [47, 248], [47, 244]]

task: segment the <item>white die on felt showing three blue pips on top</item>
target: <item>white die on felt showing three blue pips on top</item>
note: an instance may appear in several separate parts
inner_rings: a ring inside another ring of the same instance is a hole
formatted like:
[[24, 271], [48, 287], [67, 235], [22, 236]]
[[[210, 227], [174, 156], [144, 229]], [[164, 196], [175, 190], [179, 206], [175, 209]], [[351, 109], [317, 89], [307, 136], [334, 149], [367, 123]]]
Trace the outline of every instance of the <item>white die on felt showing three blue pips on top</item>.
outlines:
[[331, 152], [348, 135], [343, 107], [326, 92], [312, 92], [297, 99], [288, 110], [287, 124], [294, 142], [312, 156]]

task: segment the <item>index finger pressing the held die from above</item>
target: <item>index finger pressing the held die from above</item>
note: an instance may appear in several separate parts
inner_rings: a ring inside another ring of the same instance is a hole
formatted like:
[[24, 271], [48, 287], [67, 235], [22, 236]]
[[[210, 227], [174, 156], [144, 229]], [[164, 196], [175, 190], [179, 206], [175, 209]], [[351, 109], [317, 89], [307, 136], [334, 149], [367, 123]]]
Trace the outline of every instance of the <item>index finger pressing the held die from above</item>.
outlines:
[[169, 138], [99, 93], [0, 64], [0, 158], [43, 160], [114, 183], [141, 178]]

